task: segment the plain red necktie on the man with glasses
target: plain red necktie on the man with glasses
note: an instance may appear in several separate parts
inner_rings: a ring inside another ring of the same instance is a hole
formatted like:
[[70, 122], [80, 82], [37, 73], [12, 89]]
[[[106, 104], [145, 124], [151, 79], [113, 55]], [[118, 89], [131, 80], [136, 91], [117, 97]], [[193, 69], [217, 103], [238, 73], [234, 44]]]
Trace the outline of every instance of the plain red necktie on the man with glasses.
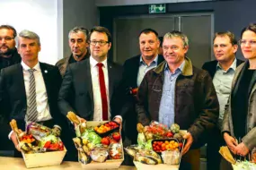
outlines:
[[97, 64], [99, 67], [99, 81], [100, 81], [100, 88], [101, 88], [101, 96], [102, 96], [102, 120], [108, 120], [108, 99], [106, 93], [106, 86], [105, 86], [105, 79], [104, 79], [104, 72], [102, 70], [103, 64]]

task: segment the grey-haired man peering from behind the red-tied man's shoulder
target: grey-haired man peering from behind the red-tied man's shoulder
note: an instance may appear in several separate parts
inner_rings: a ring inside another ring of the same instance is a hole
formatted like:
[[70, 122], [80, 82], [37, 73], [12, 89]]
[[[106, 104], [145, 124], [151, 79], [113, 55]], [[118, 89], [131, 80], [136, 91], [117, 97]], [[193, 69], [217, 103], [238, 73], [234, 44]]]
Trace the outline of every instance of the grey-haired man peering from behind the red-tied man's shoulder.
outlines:
[[68, 33], [68, 44], [72, 54], [66, 58], [59, 60], [56, 64], [62, 77], [66, 72], [67, 64], [73, 64], [79, 61], [83, 61], [85, 58], [89, 58], [88, 52], [88, 34], [89, 31], [83, 27], [75, 27]]

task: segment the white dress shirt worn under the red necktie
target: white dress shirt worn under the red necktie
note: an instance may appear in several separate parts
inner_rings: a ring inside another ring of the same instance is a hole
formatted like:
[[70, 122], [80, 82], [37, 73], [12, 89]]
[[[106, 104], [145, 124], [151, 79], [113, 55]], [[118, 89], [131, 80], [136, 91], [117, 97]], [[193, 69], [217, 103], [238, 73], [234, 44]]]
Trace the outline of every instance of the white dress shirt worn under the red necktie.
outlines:
[[[99, 81], [99, 67], [97, 66], [98, 62], [90, 56], [90, 67], [91, 67], [91, 75], [92, 75], [92, 83], [93, 83], [93, 103], [94, 103], [94, 114], [93, 121], [102, 121], [102, 96], [101, 96], [101, 88]], [[109, 93], [109, 72], [108, 72], [108, 64], [107, 59], [102, 62], [102, 70], [104, 72], [104, 80], [108, 101], [108, 118], [110, 120], [110, 93]]]

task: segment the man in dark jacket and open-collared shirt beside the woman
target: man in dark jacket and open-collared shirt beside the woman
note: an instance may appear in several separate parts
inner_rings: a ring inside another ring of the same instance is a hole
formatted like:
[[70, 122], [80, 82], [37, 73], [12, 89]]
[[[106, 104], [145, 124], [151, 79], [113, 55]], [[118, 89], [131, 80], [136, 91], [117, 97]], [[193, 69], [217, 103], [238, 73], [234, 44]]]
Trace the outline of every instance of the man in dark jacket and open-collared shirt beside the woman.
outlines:
[[203, 64], [202, 69], [209, 72], [215, 85], [217, 98], [220, 105], [218, 127], [210, 134], [207, 142], [207, 169], [220, 169], [221, 155], [218, 150], [225, 145], [221, 135], [221, 124], [225, 112], [225, 105], [231, 92], [231, 83], [234, 78], [234, 71], [243, 61], [235, 58], [237, 41], [230, 31], [216, 32], [214, 37], [215, 61]]

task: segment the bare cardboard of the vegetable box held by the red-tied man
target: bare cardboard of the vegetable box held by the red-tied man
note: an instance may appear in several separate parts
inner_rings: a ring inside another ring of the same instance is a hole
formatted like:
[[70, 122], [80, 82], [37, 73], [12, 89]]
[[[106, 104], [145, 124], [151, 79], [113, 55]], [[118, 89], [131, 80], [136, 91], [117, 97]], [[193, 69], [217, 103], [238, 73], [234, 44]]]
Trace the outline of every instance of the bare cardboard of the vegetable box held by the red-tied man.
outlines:
[[[106, 122], [106, 121], [105, 121]], [[97, 122], [97, 121], [87, 121], [86, 126], [87, 127], [95, 127], [99, 123], [105, 123], [105, 122]], [[120, 140], [122, 144], [122, 140]], [[96, 169], [118, 169], [119, 166], [121, 166], [122, 162], [124, 161], [124, 149], [122, 149], [122, 159], [107, 159], [106, 162], [99, 163], [99, 162], [91, 162], [90, 164], [81, 164], [83, 169], [86, 170], [96, 170]]]

